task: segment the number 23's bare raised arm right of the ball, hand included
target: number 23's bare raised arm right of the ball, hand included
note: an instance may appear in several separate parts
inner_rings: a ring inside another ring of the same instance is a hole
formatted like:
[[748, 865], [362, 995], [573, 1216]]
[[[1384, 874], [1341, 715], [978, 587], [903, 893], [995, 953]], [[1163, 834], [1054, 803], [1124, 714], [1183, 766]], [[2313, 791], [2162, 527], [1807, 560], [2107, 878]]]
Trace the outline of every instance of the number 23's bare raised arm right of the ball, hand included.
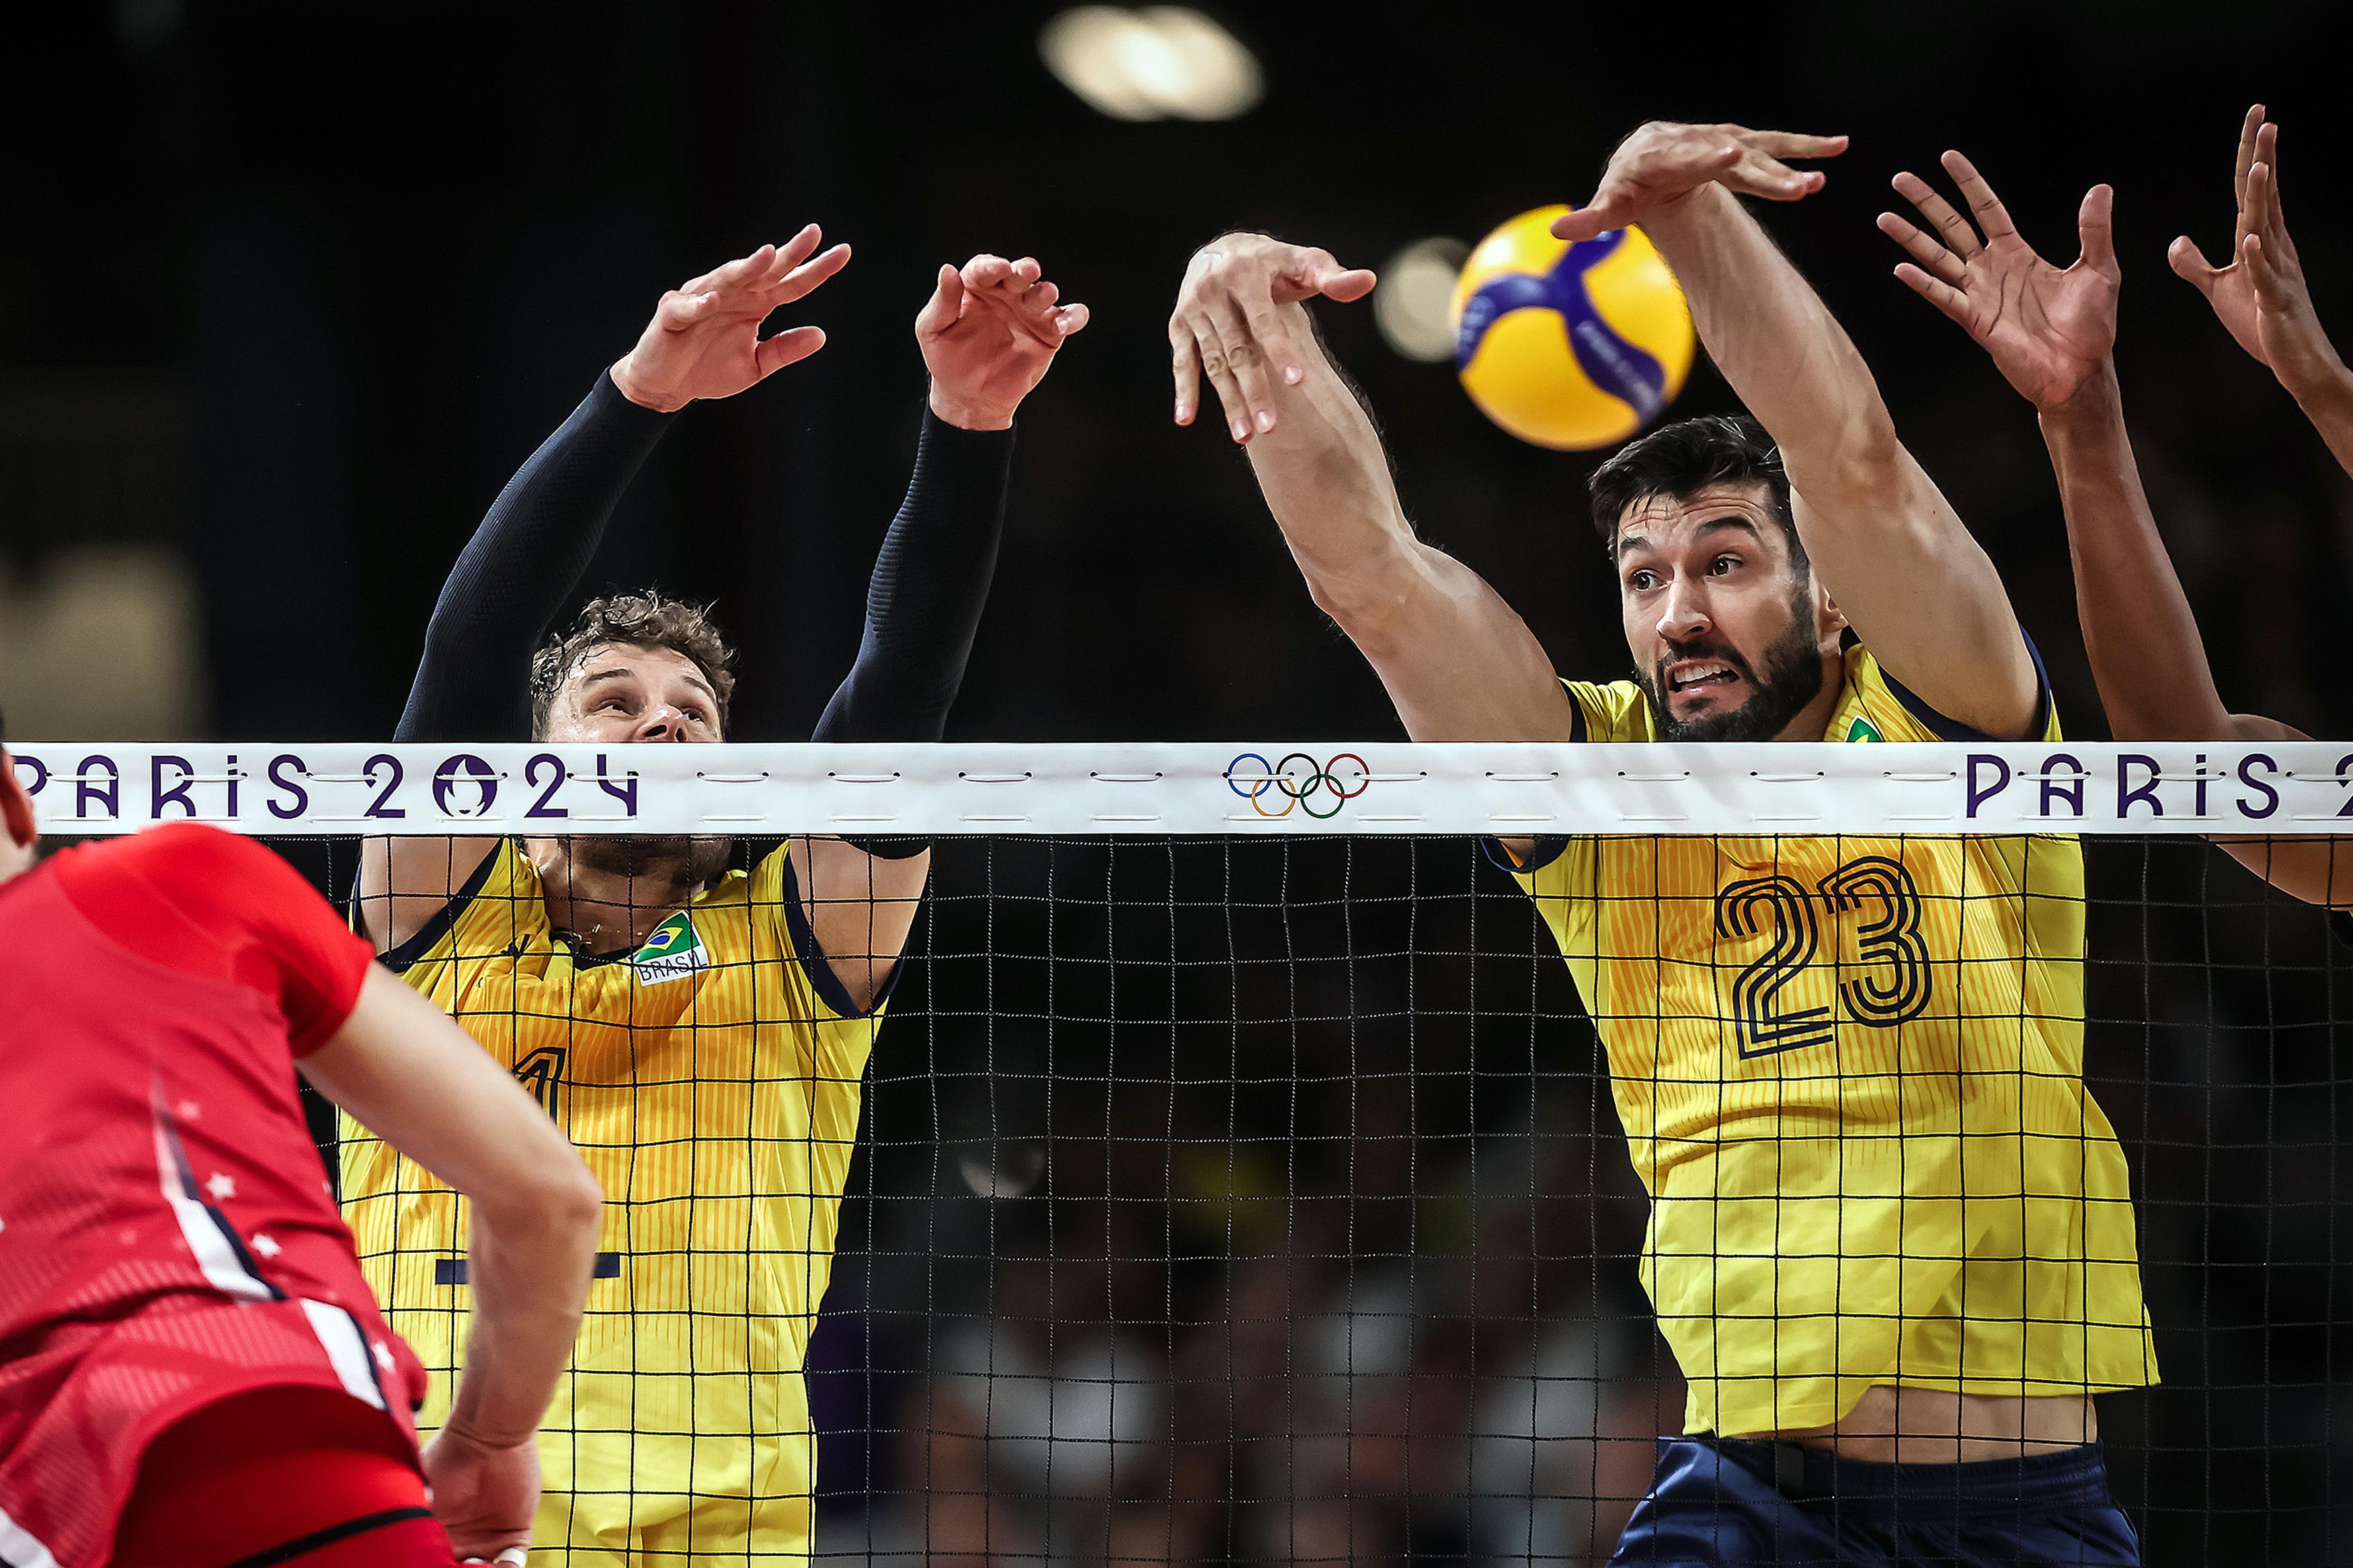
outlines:
[[1871, 367], [1734, 193], [1821, 188], [1784, 158], [1845, 136], [1645, 125], [1593, 202], [1553, 223], [1586, 240], [1642, 223], [1692, 301], [1699, 341], [1781, 447], [1798, 536], [1864, 644], [1937, 712], [2024, 736], [2040, 682], [1993, 562], [1897, 440]]

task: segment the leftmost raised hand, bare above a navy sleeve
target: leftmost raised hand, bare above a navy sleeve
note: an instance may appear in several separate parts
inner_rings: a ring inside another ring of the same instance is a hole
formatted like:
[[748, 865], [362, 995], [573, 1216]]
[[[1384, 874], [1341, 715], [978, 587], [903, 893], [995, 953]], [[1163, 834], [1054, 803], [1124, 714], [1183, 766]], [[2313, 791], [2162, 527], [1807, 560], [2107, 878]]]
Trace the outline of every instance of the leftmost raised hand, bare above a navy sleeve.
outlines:
[[849, 261], [849, 247], [819, 252], [816, 223], [784, 244], [671, 289], [638, 346], [612, 367], [621, 395], [647, 409], [682, 409], [696, 397], [734, 397], [826, 346], [821, 327], [786, 327], [762, 339], [760, 322], [791, 306]]

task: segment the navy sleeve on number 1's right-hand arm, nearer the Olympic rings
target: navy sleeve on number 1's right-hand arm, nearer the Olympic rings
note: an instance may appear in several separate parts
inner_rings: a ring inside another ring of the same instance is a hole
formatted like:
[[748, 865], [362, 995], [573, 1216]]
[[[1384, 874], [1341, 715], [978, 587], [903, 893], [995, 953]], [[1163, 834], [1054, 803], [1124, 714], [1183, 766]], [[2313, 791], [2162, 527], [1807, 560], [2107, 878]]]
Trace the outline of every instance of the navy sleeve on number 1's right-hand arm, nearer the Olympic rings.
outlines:
[[929, 409], [915, 477], [866, 588], [866, 637], [816, 741], [939, 741], [965, 682], [1005, 534], [1009, 430], [960, 430]]

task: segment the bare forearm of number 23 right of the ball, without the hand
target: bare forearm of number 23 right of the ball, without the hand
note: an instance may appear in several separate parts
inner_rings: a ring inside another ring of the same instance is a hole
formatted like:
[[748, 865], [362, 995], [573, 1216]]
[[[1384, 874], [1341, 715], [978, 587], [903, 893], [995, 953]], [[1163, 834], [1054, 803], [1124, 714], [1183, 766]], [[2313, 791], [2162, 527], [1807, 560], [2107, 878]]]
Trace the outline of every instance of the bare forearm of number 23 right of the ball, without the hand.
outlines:
[[1901, 461], [1871, 367], [1737, 195], [1701, 186], [1642, 233], [1692, 301], [1715, 369], [1781, 444], [1793, 489], [1831, 505]]

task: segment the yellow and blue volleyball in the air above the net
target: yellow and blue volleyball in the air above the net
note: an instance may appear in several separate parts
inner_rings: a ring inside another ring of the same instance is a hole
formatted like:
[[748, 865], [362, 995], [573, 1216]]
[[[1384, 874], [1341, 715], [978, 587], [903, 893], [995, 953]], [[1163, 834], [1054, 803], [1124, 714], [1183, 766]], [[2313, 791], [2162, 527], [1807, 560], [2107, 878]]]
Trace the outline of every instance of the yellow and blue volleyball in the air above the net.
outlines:
[[1553, 237], [1537, 207], [1478, 242], [1454, 284], [1454, 364], [1480, 414], [1522, 442], [1621, 442], [1682, 390], [1692, 306], [1640, 228]]

